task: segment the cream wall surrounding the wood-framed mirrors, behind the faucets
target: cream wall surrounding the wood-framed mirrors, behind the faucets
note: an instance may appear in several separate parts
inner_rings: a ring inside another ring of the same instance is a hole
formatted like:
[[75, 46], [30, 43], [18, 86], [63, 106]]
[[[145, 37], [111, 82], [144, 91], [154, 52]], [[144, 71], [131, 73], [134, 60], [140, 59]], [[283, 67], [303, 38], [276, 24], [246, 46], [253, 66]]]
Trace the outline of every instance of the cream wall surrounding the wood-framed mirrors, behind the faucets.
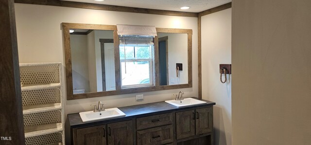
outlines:
[[135, 99], [137, 94], [66, 100], [66, 115], [67, 113], [90, 111], [92, 110], [90, 105], [99, 100], [108, 103], [107, 108], [112, 108], [173, 99], [172, 94], [181, 90], [185, 92], [185, 97], [198, 96], [198, 77], [196, 75], [198, 74], [198, 61], [195, 59], [198, 54], [196, 17], [161, 16], [19, 3], [15, 4], [15, 14], [20, 63], [62, 62], [64, 64], [62, 22], [154, 25], [159, 28], [192, 29], [192, 88], [141, 93], [144, 94], [144, 100], [139, 102]]

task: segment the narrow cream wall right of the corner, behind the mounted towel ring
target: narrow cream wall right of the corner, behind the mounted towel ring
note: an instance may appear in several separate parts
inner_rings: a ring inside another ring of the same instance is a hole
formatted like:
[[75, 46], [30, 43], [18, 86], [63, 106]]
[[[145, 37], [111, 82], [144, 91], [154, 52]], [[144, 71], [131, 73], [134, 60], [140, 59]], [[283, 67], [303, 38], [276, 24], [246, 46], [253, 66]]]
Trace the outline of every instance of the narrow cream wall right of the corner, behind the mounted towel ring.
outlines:
[[216, 102], [214, 144], [231, 145], [231, 75], [221, 83], [219, 73], [219, 64], [231, 64], [231, 8], [202, 16], [201, 26], [202, 98]]

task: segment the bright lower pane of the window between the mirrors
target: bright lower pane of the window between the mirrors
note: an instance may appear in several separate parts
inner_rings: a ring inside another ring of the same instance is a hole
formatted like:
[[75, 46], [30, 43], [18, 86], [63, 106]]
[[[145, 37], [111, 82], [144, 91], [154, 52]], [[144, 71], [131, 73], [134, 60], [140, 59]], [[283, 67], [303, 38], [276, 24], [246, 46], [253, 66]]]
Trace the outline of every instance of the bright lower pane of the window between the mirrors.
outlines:
[[121, 63], [122, 86], [150, 83], [149, 62], [126, 62]]

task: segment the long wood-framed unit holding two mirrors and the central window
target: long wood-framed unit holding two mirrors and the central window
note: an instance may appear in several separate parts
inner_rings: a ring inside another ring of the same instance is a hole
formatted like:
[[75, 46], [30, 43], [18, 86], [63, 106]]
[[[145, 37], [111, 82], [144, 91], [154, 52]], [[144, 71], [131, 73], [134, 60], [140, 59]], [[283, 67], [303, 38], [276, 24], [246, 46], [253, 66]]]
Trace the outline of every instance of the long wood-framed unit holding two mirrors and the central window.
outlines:
[[[192, 87], [192, 30], [125, 39], [115, 25], [62, 26], [68, 100]], [[148, 43], [125, 43], [136, 39]]]

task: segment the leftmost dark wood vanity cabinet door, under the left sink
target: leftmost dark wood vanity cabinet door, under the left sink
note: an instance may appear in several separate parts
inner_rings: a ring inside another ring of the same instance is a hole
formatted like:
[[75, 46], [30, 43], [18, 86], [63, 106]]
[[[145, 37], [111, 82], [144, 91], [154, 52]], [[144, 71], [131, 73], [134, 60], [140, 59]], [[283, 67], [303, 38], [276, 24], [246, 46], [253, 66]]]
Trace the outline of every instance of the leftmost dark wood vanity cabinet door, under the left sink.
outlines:
[[77, 129], [77, 145], [106, 145], [105, 125]]

